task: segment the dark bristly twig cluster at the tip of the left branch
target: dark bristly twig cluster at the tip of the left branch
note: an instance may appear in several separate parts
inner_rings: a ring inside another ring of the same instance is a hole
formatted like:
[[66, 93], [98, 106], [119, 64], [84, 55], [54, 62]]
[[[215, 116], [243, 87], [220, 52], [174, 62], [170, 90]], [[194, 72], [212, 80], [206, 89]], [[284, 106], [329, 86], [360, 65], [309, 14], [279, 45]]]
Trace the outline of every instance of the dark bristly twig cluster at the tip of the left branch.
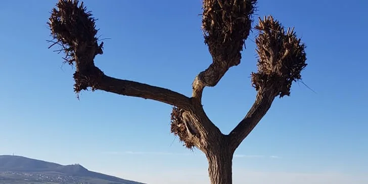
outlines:
[[76, 64], [74, 90], [78, 93], [96, 83], [89, 76], [103, 74], [93, 61], [96, 55], [103, 54], [103, 42], [98, 44], [96, 19], [86, 11], [83, 2], [78, 6], [77, 0], [59, 0], [56, 7], [48, 24], [55, 44], [62, 45], [66, 62]]

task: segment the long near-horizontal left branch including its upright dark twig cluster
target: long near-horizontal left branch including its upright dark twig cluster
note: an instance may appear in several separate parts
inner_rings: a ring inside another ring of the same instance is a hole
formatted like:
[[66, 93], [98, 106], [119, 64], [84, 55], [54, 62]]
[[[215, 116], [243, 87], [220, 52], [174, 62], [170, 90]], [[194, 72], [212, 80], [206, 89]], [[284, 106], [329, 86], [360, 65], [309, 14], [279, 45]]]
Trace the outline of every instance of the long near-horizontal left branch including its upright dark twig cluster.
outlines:
[[83, 3], [59, 0], [49, 26], [56, 42], [62, 45], [69, 64], [76, 66], [74, 90], [79, 93], [91, 87], [111, 93], [152, 99], [183, 109], [189, 109], [191, 99], [175, 91], [144, 83], [122, 80], [105, 75], [94, 64], [95, 56], [102, 54], [103, 42], [98, 44], [95, 19]]

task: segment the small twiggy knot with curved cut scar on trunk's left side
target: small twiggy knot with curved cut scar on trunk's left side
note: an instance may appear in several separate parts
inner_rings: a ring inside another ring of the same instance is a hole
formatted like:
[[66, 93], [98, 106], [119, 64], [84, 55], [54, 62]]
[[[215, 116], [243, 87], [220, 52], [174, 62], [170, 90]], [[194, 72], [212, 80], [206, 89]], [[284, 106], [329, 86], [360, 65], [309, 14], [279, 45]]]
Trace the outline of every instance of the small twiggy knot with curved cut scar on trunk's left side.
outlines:
[[200, 134], [194, 126], [189, 113], [183, 109], [173, 107], [171, 112], [171, 133], [179, 136], [184, 145], [192, 149], [199, 144]]

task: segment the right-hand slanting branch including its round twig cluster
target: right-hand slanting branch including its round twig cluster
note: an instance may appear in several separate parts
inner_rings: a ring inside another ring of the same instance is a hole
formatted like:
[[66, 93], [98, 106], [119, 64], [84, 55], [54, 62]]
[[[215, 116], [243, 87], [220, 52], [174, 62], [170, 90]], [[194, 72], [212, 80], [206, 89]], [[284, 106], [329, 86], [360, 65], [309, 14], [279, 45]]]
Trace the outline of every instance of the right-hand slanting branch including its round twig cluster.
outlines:
[[271, 16], [259, 19], [255, 28], [260, 31], [256, 38], [258, 72], [252, 73], [257, 97], [245, 118], [229, 134], [234, 150], [266, 114], [275, 97], [290, 95], [292, 82], [301, 79], [300, 73], [307, 66], [305, 45], [293, 29], [285, 31]]

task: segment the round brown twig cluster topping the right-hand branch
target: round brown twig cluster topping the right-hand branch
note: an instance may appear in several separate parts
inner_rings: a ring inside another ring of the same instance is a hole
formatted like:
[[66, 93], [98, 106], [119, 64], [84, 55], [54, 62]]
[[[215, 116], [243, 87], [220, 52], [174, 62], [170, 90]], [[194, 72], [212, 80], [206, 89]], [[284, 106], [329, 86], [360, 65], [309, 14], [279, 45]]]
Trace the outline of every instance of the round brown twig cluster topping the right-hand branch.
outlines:
[[284, 27], [271, 16], [259, 19], [255, 27], [260, 33], [256, 38], [258, 72], [252, 73], [256, 90], [272, 90], [274, 95], [290, 95], [293, 81], [301, 79], [301, 71], [307, 66], [305, 45], [296, 37], [294, 28]]

